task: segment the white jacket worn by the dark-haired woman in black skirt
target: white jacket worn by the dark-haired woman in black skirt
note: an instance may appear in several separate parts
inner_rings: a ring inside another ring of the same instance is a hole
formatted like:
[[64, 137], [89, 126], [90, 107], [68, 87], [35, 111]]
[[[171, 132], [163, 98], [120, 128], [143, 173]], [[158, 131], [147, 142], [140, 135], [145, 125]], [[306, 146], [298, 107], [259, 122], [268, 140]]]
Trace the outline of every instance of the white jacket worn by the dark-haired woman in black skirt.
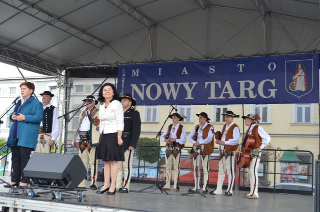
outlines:
[[100, 104], [99, 119], [100, 133], [106, 134], [123, 131], [123, 108], [121, 103], [117, 100], [113, 100], [107, 108], [104, 108], [104, 104]]

